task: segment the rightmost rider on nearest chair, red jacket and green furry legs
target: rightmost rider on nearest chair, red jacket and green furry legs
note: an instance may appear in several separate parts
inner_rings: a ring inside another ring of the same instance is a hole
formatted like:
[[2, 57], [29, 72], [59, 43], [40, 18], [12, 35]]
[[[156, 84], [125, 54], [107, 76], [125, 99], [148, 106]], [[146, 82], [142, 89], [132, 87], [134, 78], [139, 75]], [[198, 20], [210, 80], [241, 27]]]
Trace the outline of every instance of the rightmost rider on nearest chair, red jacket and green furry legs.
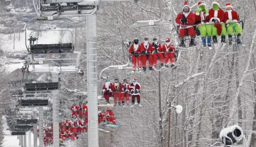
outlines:
[[239, 21], [239, 18], [238, 18], [237, 12], [233, 10], [233, 6], [230, 3], [227, 3], [226, 12], [225, 12], [225, 22], [228, 23], [227, 31], [228, 31], [229, 45], [232, 44], [233, 27], [236, 32], [237, 43], [242, 44], [242, 41], [241, 41], [242, 27], [239, 25], [239, 23], [237, 23], [238, 21]]

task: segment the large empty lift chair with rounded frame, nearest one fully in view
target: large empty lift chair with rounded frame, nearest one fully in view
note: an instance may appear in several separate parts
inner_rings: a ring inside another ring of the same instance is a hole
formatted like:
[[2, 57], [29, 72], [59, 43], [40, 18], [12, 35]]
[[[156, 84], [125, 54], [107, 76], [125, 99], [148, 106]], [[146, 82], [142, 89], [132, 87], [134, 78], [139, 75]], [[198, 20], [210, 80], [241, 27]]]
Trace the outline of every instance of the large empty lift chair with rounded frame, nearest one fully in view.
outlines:
[[[27, 35], [29, 35], [29, 38], [26, 41], [26, 47], [29, 53], [31, 54], [73, 53], [75, 49], [75, 44], [76, 44], [75, 23], [68, 18], [54, 18], [52, 22], [53, 24], [56, 24], [56, 25], [58, 24], [58, 26], [54, 25], [55, 29], [48, 25], [49, 21], [47, 21], [47, 19], [32, 19], [26, 24], [25, 38], [27, 38]], [[33, 24], [36, 24], [36, 25], [33, 26]], [[32, 28], [37, 25], [39, 26], [39, 28], [32, 29], [34, 31], [30, 31], [30, 33], [28, 34], [28, 28]], [[70, 27], [70, 25], [72, 27], [67, 28], [67, 27]], [[59, 38], [56, 39], [56, 37], [54, 38], [56, 40], [52, 39], [51, 41], [55, 42], [53, 44], [42, 44], [45, 41], [41, 39], [41, 37], [42, 38], [51, 37], [51, 36], [43, 36], [43, 35], [39, 37], [39, 34], [41, 34], [42, 32], [45, 32], [46, 35], [54, 35], [56, 34], [55, 32], [61, 32], [62, 35], [60, 34], [60, 37], [61, 37], [60, 39]], [[73, 42], [73, 40], [75, 42]]]

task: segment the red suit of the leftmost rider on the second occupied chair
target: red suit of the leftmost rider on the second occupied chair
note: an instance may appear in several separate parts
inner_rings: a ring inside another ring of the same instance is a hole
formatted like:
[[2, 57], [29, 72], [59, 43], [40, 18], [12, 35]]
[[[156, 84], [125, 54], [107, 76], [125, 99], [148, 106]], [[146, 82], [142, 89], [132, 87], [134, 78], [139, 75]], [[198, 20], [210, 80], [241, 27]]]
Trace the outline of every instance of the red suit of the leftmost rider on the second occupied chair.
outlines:
[[137, 61], [138, 61], [138, 68], [141, 68], [142, 67], [142, 59], [141, 59], [141, 48], [140, 48], [140, 45], [139, 44], [133, 44], [131, 45], [131, 47], [129, 48], [129, 53], [132, 54], [132, 53], [138, 53], [138, 55], [131, 55], [132, 56], [132, 68], [133, 70], [136, 69], [136, 64], [137, 64]]

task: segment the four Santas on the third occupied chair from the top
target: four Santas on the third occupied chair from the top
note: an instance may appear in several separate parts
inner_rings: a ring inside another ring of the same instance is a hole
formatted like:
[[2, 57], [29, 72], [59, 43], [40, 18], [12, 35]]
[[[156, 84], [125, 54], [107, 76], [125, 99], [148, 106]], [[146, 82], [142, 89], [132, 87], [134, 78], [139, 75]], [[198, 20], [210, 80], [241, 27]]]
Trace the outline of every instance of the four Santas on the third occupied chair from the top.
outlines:
[[122, 105], [125, 107], [125, 101], [127, 105], [130, 105], [130, 94], [132, 95], [132, 107], [135, 103], [135, 97], [137, 97], [137, 103], [140, 104], [140, 89], [141, 86], [137, 82], [137, 79], [133, 79], [132, 83], [127, 83], [127, 79], [123, 80], [123, 83], [119, 83], [119, 80], [116, 78], [115, 83], [111, 83], [110, 78], [106, 79], [106, 83], [103, 85], [103, 97], [106, 100], [106, 103], [109, 103], [109, 97], [114, 95], [114, 105]]

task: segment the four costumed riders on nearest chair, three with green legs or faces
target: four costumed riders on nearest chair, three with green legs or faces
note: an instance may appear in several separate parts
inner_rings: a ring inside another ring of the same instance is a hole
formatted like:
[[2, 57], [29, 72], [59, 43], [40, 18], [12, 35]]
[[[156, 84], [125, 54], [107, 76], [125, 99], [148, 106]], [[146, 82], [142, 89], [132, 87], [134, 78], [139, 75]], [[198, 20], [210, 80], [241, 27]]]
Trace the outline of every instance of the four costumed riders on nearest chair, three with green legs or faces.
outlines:
[[212, 9], [207, 10], [204, 2], [198, 3], [196, 13], [191, 12], [188, 2], [185, 1], [183, 5], [183, 11], [177, 15], [175, 19], [179, 24], [179, 38], [180, 47], [185, 47], [184, 37], [186, 31], [190, 36], [190, 45], [195, 46], [195, 30], [196, 25], [199, 30], [203, 46], [211, 46], [211, 37], [213, 43], [217, 43], [217, 36], [221, 36], [221, 43], [226, 41], [226, 32], [228, 32], [229, 45], [232, 44], [233, 31], [237, 36], [237, 43], [242, 44], [241, 34], [242, 27], [239, 25], [239, 17], [236, 11], [233, 10], [233, 6], [230, 3], [226, 4], [226, 12], [220, 9], [218, 1], [212, 2]]

